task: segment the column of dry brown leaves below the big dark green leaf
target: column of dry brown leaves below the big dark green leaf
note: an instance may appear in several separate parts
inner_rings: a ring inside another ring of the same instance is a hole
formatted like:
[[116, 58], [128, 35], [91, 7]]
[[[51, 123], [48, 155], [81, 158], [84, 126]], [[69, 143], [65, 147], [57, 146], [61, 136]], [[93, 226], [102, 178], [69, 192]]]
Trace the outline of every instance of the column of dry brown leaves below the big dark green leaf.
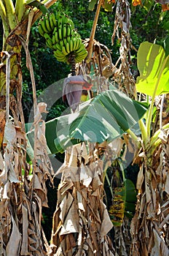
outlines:
[[115, 255], [103, 203], [103, 162], [84, 143], [68, 148], [53, 216], [52, 255]]

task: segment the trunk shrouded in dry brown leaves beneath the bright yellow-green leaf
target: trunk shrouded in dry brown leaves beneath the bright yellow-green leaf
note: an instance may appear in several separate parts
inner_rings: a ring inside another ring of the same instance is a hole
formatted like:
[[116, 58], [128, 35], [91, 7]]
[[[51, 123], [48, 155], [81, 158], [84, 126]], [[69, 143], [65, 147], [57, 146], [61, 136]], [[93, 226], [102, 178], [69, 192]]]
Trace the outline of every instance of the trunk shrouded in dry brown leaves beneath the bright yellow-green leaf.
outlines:
[[[168, 123], [168, 95], [162, 111], [162, 124]], [[157, 140], [141, 156], [138, 173], [138, 200], [131, 224], [133, 243], [130, 255], [169, 255], [169, 143], [168, 129], [161, 129]], [[159, 144], [154, 151], [153, 148]]]

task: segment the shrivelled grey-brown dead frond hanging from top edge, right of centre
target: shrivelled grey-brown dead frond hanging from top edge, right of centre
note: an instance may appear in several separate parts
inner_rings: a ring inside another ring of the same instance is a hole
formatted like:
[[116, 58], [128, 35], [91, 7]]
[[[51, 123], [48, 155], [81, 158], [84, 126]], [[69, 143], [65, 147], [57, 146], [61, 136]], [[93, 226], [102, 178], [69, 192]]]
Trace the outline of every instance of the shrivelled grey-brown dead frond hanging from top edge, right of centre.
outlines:
[[132, 64], [130, 57], [130, 49], [132, 48], [132, 39], [130, 38], [130, 16], [129, 2], [123, 0], [117, 1], [112, 45], [114, 45], [114, 39], [117, 36], [117, 39], [120, 42], [120, 48], [119, 59], [115, 64], [117, 70], [114, 72], [113, 80], [117, 83], [120, 90], [125, 91], [130, 97], [133, 97], [135, 96], [135, 79], [133, 78], [130, 68], [130, 65]]

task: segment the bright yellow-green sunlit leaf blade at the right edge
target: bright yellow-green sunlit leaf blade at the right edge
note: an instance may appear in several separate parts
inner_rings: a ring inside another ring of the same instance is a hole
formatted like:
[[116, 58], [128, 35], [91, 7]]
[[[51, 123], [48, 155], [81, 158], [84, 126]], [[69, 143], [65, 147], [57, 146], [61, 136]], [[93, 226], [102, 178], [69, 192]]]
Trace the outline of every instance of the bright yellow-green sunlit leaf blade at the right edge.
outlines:
[[169, 58], [160, 45], [142, 42], [138, 49], [137, 91], [152, 96], [169, 92]]

